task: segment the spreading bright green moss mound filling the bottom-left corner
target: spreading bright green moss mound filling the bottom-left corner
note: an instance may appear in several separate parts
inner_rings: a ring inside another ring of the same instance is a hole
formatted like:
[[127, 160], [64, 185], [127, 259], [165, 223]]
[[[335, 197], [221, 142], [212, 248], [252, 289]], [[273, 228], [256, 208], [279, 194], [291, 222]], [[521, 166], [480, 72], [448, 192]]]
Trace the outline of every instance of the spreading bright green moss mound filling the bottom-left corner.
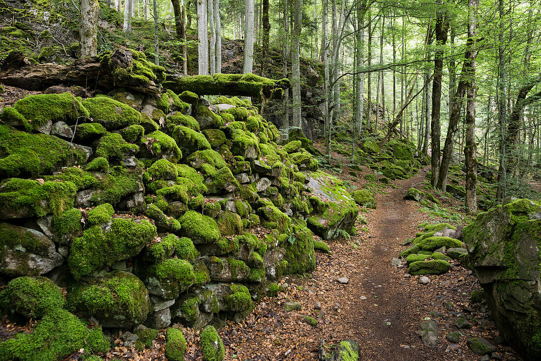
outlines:
[[34, 332], [20, 332], [3, 342], [2, 359], [21, 361], [57, 361], [84, 349], [88, 353], [105, 352], [109, 342], [101, 327], [88, 329], [87, 324], [65, 310], [45, 314]]

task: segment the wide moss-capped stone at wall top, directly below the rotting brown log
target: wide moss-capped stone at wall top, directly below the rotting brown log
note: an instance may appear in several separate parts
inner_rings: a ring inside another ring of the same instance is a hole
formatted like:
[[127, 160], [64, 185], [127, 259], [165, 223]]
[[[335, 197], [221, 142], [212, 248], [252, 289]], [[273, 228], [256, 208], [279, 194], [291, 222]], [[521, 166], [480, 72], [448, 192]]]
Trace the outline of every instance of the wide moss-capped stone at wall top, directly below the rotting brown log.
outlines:
[[29, 95], [18, 100], [13, 107], [31, 123], [33, 129], [53, 121], [75, 124], [78, 117], [90, 116], [81, 98], [71, 93]]

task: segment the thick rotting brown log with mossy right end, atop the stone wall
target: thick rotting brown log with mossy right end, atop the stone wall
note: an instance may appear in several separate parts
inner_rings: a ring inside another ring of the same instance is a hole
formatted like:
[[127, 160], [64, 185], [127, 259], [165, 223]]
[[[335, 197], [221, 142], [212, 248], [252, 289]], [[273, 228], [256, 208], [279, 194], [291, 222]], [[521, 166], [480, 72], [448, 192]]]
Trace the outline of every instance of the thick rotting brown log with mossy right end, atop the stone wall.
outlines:
[[104, 91], [126, 87], [159, 94], [164, 71], [148, 62], [142, 52], [127, 49], [78, 59], [69, 65], [32, 65], [22, 52], [11, 51], [0, 63], [0, 83], [31, 91], [64, 84]]

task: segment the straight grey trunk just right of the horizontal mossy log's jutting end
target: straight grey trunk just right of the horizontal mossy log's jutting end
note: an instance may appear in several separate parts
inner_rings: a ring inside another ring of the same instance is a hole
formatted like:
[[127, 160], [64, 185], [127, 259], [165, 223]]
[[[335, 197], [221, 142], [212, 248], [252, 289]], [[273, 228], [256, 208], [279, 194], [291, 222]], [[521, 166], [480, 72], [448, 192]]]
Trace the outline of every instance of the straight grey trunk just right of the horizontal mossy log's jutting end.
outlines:
[[300, 38], [302, 31], [302, 0], [294, 0], [294, 23], [291, 56], [291, 80], [293, 88], [293, 128], [302, 129]]

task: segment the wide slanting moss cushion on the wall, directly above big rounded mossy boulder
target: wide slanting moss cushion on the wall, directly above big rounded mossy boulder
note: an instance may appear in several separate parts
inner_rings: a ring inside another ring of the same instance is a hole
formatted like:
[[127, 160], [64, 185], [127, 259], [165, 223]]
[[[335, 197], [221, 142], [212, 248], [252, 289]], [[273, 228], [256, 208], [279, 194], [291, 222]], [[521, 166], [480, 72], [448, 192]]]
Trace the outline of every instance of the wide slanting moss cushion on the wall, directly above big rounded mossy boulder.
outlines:
[[127, 218], [114, 218], [105, 229], [91, 226], [72, 242], [68, 264], [75, 278], [133, 257], [156, 234], [149, 221]]

